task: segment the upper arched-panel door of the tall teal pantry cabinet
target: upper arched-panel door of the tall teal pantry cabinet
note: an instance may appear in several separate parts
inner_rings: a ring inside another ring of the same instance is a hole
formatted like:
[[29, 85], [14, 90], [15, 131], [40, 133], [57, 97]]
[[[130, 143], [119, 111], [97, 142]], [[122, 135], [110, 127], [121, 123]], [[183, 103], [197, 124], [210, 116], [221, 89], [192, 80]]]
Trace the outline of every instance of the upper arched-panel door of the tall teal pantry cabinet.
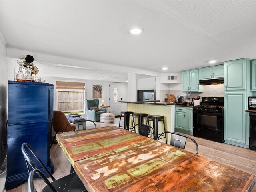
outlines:
[[224, 84], [226, 90], [246, 89], [246, 59], [224, 62]]

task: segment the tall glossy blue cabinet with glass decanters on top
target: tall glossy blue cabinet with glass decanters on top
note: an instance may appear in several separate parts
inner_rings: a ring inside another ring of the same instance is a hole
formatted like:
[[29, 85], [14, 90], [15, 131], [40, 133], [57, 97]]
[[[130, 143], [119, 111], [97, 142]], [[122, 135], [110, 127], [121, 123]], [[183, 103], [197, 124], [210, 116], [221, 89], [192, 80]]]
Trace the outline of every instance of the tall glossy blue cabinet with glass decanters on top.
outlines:
[[53, 85], [8, 81], [7, 178], [6, 190], [28, 179], [21, 152], [24, 142], [36, 151], [44, 165], [53, 172], [50, 159]]

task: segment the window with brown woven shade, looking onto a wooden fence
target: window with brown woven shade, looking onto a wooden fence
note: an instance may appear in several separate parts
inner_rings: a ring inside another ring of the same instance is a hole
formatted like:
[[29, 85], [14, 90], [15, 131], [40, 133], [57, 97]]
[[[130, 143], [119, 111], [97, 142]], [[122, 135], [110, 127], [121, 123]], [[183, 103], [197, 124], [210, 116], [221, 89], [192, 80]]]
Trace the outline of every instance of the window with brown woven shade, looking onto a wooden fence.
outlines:
[[56, 82], [57, 109], [65, 114], [84, 113], [84, 83]]

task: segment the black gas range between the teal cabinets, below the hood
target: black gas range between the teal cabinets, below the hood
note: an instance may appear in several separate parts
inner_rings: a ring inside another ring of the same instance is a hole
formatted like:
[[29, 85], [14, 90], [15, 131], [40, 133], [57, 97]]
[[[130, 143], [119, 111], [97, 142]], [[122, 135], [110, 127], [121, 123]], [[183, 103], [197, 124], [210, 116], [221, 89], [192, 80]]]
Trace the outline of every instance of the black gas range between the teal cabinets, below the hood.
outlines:
[[202, 97], [202, 105], [193, 107], [193, 134], [196, 137], [224, 142], [224, 97]]

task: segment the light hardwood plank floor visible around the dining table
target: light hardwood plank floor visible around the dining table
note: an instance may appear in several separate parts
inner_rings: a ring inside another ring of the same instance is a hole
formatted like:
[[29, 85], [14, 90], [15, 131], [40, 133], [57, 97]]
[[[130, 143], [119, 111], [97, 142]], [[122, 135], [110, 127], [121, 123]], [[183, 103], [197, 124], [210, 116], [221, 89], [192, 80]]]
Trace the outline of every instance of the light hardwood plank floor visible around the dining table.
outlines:
[[[114, 123], [100, 123], [96, 122], [97, 127], [104, 127], [115, 125], [118, 126], [119, 118], [115, 118]], [[122, 124], [122, 123], [121, 123]], [[209, 140], [201, 139], [193, 137], [198, 143], [199, 146], [199, 155], [206, 156], [218, 162], [222, 162], [238, 168], [240, 170], [244, 170], [246, 172], [250, 172], [252, 174], [256, 174], [256, 151], [232, 146], [224, 143], [212, 142]], [[195, 152], [194, 143], [188, 140], [186, 144], [186, 150]], [[60, 148], [58, 144], [53, 144], [51, 148], [51, 159], [54, 164], [54, 173], [53, 176], [58, 179], [67, 174], [70, 171], [70, 163], [68, 158], [66, 158], [64, 152]], [[44, 188], [45, 184], [40, 179], [35, 179], [34, 182], [36, 189], [38, 191]], [[24, 184], [18, 186], [15, 189], [8, 190], [7, 192], [26, 192], [27, 191], [27, 181]], [[256, 192], [256, 187], [252, 190]]]

